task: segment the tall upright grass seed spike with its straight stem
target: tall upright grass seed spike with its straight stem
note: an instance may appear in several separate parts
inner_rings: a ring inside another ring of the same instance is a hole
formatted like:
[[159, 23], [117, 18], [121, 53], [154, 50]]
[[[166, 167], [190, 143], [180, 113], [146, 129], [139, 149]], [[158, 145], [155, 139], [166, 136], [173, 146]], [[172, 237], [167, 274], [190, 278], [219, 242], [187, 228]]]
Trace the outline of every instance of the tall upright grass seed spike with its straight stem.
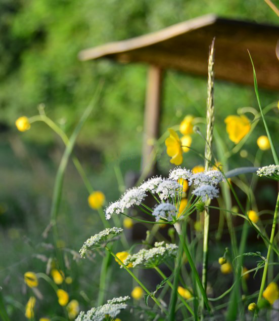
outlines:
[[[209, 168], [212, 158], [212, 138], [214, 126], [214, 42], [212, 41], [208, 58], [208, 85], [207, 85], [207, 111], [206, 111], [206, 144], [205, 144], [205, 170]], [[206, 291], [207, 287], [207, 262], [208, 262], [208, 232], [209, 232], [209, 209], [210, 199], [206, 202], [204, 211], [204, 242], [203, 242], [203, 271], [202, 271], [202, 284]], [[202, 300], [202, 308], [204, 308], [204, 300]]]

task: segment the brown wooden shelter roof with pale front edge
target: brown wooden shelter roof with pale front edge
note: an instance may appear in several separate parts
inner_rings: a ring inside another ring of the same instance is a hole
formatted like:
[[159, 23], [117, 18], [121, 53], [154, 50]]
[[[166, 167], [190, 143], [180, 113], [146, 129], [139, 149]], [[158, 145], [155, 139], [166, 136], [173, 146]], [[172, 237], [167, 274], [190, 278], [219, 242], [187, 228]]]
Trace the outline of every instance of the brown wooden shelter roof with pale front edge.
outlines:
[[[249, 50], [258, 85], [279, 89], [279, 26], [206, 15], [160, 31], [83, 50], [81, 60], [102, 57], [145, 62], [162, 69], [207, 75], [208, 48], [215, 41], [215, 77], [253, 85]], [[276, 53], [277, 52], [277, 53]]]

